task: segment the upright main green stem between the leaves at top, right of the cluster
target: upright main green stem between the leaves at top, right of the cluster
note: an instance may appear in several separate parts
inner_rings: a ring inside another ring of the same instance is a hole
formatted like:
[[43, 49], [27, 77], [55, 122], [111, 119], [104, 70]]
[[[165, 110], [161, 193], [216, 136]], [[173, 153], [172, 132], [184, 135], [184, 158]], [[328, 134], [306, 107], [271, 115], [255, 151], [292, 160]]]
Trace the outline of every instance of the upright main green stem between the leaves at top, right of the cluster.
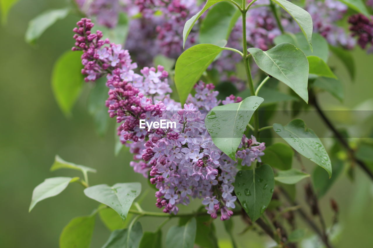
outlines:
[[[254, 0], [255, 1], [255, 0]], [[253, 3], [253, 2], [251, 2]], [[244, 8], [245, 6], [245, 1], [242, 1], [242, 6]], [[250, 6], [250, 4], [249, 4]], [[245, 65], [245, 70], [246, 70], [246, 77], [247, 77], [247, 82], [249, 84], [250, 88], [250, 93], [252, 96], [255, 95], [254, 91], [254, 82], [253, 82], [253, 77], [251, 77], [251, 71], [250, 71], [250, 64], [249, 64], [249, 58], [247, 56], [247, 41], [246, 41], [246, 13], [247, 10], [242, 12], [242, 47], [243, 47], [243, 60], [244, 60], [244, 65]], [[258, 129], [259, 129], [259, 115], [258, 111], [254, 112], [254, 136], [258, 136]]]

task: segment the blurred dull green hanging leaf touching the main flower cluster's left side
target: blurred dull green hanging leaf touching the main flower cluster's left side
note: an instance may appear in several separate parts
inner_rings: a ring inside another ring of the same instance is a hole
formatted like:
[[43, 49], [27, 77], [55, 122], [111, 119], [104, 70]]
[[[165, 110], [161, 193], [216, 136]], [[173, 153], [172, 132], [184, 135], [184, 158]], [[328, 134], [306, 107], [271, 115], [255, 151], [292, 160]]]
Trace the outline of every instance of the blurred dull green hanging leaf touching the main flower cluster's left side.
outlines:
[[97, 133], [101, 136], [106, 133], [110, 121], [107, 107], [105, 106], [105, 101], [108, 98], [107, 92], [109, 90], [106, 87], [106, 80], [106, 77], [101, 77], [96, 80], [87, 101], [88, 112], [93, 117]]

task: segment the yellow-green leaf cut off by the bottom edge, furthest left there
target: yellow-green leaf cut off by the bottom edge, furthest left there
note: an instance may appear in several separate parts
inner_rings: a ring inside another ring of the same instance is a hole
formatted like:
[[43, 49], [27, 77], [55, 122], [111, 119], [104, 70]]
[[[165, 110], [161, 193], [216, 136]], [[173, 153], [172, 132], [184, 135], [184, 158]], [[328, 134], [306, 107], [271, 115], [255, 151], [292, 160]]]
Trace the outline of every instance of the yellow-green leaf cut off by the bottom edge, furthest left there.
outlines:
[[72, 219], [60, 235], [60, 248], [89, 248], [94, 229], [95, 215]]

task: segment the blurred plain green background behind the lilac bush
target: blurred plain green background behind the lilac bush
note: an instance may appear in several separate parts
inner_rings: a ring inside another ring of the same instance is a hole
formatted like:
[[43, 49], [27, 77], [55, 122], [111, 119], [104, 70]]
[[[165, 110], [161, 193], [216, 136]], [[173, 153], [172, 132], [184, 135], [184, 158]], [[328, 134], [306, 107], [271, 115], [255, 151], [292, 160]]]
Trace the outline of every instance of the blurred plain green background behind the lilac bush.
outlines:
[[[67, 161], [96, 168], [97, 174], [90, 174], [91, 185], [140, 181], [143, 188], [148, 188], [146, 180], [128, 165], [131, 160], [128, 152], [114, 156], [115, 121], [111, 121], [104, 136], [97, 135], [86, 107], [88, 86], [70, 119], [64, 117], [54, 101], [50, 87], [53, 63], [73, 45], [72, 28], [79, 17], [69, 15], [57, 22], [34, 46], [24, 41], [30, 19], [44, 10], [64, 6], [66, 3], [62, 0], [21, 0], [10, 11], [7, 25], [0, 27], [0, 247], [58, 247], [59, 234], [69, 220], [90, 214], [97, 207], [95, 201], [85, 197], [81, 185], [71, 184], [58, 197], [42, 201], [28, 213], [32, 190], [44, 178], [80, 176], [75, 171], [49, 172], [56, 154]], [[354, 83], [339, 61], [332, 58], [331, 64], [344, 83], [346, 98], [341, 105], [323, 93], [325, 109], [353, 108], [373, 98], [373, 55], [359, 49], [353, 54], [357, 69]], [[368, 108], [372, 110], [373, 106]], [[316, 133], [327, 132], [320, 120], [307, 124], [317, 130]], [[306, 166], [311, 172], [314, 165], [306, 163]], [[321, 200], [327, 223], [332, 220], [330, 197], [339, 204], [342, 232], [336, 247], [365, 248], [373, 244], [372, 182], [360, 170], [356, 172], [355, 182], [348, 180], [344, 173]], [[299, 199], [303, 201], [302, 184], [298, 189]], [[154, 203], [154, 191], [150, 189], [143, 208], [159, 211]], [[244, 225], [239, 217], [234, 220], [235, 233], [239, 233]], [[141, 219], [144, 230], [154, 230], [160, 221], [162, 219], [154, 217]], [[172, 223], [163, 228], [164, 233]], [[226, 243], [228, 237], [222, 223], [216, 220], [215, 224], [220, 242]], [[101, 247], [109, 233], [97, 218], [92, 247]], [[241, 247], [270, 244], [267, 238], [251, 232], [236, 236]]]

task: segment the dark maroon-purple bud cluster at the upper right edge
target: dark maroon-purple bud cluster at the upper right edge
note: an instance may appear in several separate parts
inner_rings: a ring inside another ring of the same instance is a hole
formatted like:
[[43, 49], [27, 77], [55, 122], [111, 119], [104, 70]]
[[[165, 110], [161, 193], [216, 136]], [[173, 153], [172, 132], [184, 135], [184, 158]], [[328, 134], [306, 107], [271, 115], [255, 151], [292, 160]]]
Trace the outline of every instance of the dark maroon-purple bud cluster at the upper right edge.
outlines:
[[351, 24], [350, 30], [353, 36], [358, 36], [357, 43], [365, 49], [368, 44], [368, 52], [373, 52], [373, 21], [362, 14], [356, 14], [348, 18]]

